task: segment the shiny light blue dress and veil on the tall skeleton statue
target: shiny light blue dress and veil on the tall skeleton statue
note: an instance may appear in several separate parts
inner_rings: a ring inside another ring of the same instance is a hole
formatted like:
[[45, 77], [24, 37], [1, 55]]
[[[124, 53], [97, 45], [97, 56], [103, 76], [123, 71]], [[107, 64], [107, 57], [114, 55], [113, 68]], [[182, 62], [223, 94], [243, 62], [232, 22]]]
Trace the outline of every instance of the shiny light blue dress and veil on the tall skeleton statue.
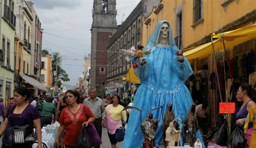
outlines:
[[[181, 119], [183, 122], [192, 104], [192, 98], [188, 88], [185, 86], [185, 81], [192, 75], [193, 71], [188, 60], [185, 58], [184, 62], [176, 60], [176, 52], [178, 48], [175, 44], [169, 25], [169, 46], [158, 46], [158, 36], [160, 35], [160, 28], [163, 22], [160, 21], [152, 32], [147, 45], [143, 49], [145, 51], [151, 50], [151, 53], [144, 55], [147, 64], [141, 66], [133, 59], [132, 62], [139, 65], [134, 73], [140, 78], [140, 87], [138, 88], [134, 97], [133, 106], [142, 110], [142, 121], [147, 118], [150, 110], [163, 106], [163, 114], [168, 108], [170, 102], [173, 103], [173, 110], [175, 117]], [[169, 24], [169, 22], [167, 22]], [[153, 110], [151, 113], [154, 119], [159, 120], [159, 126], [156, 131], [155, 143], [156, 148], [158, 142], [162, 139], [162, 113], [161, 109]], [[143, 134], [140, 129], [140, 112], [131, 109], [129, 116], [129, 124], [125, 132], [125, 139], [122, 143], [122, 148], [141, 148], [143, 142]], [[197, 138], [203, 144], [200, 132], [197, 132]], [[184, 140], [183, 131], [181, 139]], [[183, 146], [183, 141], [180, 142]]]

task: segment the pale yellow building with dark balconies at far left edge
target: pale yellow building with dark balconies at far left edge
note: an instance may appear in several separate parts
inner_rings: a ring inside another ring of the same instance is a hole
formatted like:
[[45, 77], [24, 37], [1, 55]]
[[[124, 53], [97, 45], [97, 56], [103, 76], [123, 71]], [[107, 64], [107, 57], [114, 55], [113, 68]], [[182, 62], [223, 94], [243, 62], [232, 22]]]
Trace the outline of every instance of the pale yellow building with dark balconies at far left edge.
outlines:
[[0, 95], [8, 102], [13, 96], [14, 34], [16, 26], [16, 0], [1, 0], [0, 8]]

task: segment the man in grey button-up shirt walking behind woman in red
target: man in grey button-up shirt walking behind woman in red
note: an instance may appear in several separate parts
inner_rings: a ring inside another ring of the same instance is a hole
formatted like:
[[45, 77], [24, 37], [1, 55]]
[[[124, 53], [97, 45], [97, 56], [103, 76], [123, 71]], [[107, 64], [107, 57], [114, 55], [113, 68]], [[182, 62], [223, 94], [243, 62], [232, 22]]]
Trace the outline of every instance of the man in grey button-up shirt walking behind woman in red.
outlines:
[[[103, 104], [102, 99], [97, 97], [97, 91], [96, 88], [91, 88], [89, 90], [90, 97], [86, 98], [83, 102], [83, 104], [87, 105], [91, 112], [93, 113], [95, 120], [93, 122], [100, 138], [102, 135], [102, 126], [105, 123], [105, 106]], [[94, 148], [100, 148], [99, 146], [95, 146]]]

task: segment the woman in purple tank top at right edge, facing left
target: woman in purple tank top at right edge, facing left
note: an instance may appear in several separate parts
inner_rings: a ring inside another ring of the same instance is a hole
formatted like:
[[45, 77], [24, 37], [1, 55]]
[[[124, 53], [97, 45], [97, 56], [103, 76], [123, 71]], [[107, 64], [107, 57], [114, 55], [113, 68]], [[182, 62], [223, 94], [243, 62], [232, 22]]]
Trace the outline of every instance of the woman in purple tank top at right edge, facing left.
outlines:
[[[243, 101], [243, 105], [241, 106], [239, 112], [236, 114], [236, 124], [238, 126], [245, 125], [245, 119], [251, 107], [255, 106], [256, 102], [256, 91], [250, 84], [242, 84], [236, 94], [237, 100]], [[245, 134], [245, 138], [247, 139], [245, 148], [249, 148], [250, 139], [253, 131], [253, 123], [250, 121], [247, 133]]]

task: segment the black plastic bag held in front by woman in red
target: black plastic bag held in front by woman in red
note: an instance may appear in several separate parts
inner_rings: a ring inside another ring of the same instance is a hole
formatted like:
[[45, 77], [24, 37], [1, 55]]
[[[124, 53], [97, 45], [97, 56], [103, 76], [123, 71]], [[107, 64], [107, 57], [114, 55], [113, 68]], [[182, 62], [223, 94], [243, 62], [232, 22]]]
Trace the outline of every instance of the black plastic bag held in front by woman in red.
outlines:
[[[83, 134], [84, 132], [84, 134]], [[75, 148], [91, 148], [91, 141], [89, 139], [88, 133], [85, 130], [85, 126], [82, 127], [78, 139], [76, 141]]]

